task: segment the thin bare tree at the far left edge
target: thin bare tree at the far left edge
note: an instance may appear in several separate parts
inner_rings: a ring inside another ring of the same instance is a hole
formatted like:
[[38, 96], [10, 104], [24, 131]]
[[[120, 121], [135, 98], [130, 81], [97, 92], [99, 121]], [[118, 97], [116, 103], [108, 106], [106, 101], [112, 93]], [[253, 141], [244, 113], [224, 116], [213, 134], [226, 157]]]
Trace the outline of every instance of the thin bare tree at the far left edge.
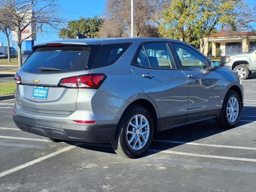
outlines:
[[0, 20], [0, 30], [6, 35], [7, 39], [7, 54], [8, 54], [8, 63], [11, 62], [10, 58], [10, 21], [8, 18], [10, 17], [7, 11], [4, 8], [0, 8], [0, 15], [2, 19]]

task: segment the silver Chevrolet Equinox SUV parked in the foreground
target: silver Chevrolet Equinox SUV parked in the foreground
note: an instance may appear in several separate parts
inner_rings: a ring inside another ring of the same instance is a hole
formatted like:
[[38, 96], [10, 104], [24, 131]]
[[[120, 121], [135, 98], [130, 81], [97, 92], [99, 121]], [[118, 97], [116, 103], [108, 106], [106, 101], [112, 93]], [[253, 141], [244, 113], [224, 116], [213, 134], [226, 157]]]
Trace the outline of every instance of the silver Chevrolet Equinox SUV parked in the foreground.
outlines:
[[54, 142], [110, 142], [127, 158], [162, 130], [212, 118], [231, 128], [243, 107], [235, 72], [162, 38], [38, 44], [15, 80], [18, 128]]

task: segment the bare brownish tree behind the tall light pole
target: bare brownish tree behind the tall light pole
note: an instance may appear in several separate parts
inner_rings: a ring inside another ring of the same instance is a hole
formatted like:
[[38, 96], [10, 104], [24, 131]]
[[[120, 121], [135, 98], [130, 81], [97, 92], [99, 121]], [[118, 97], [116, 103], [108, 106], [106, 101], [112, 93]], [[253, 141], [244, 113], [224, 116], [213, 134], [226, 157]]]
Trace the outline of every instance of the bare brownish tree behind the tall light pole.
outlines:
[[[170, 0], [134, 0], [134, 36], [157, 37], [159, 18]], [[107, 0], [104, 24], [100, 35], [125, 37], [130, 34], [130, 0]]]

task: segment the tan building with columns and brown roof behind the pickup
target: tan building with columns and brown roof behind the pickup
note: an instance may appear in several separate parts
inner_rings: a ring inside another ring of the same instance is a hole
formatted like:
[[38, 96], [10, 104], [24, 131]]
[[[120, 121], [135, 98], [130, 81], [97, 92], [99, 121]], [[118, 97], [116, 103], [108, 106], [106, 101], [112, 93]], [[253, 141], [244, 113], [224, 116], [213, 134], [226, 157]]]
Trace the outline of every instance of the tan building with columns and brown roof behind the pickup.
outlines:
[[220, 31], [212, 34], [208, 42], [207, 38], [204, 38], [204, 43], [206, 43], [204, 55], [210, 57], [249, 52], [256, 48], [256, 32]]

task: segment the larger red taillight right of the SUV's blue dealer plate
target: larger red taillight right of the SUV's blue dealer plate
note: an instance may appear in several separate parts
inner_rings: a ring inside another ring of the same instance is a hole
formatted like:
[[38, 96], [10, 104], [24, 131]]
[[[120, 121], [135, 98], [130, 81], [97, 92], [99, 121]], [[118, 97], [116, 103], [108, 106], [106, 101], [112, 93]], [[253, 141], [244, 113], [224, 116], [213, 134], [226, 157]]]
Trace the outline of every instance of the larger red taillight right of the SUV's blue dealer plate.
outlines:
[[68, 88], [92, 88], [98, 89], [105, 80], [105, 74], [86, 74], [66, 77], [60, 80], [58, 86]]

